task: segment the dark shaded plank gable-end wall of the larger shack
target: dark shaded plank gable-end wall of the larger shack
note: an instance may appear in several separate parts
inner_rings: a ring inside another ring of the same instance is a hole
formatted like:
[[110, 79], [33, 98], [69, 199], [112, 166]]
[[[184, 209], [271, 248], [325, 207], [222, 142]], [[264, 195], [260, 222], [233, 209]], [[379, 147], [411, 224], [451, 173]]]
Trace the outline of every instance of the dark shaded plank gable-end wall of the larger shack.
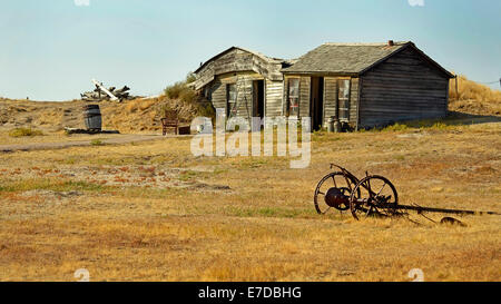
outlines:
[[362, 80], [361, 127], [446, 115], [449, 79], [415, 50], [403, 50]]

